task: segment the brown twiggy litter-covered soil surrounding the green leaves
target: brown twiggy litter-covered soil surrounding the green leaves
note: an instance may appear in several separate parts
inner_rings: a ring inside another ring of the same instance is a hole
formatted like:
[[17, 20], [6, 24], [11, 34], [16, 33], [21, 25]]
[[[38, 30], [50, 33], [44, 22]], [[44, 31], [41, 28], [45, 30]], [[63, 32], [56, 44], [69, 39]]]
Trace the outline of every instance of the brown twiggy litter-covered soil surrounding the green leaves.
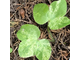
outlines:
[[[38, 3], [50, 5], [55, 0], [10, 0], [10, 47], [13, 52], [10, 53], [10, 60], [38, 60], [35, 56], [21, 58], [18, 54], [20, 40], [16, 33], [24, 24], [33, 24], [39, 27], [41, 31], [40, 39], [51, 39], [47, 32], [47, 23], [44, 25], [37, 24], [33, 19], [33, 7]], [[67, 2], [66, 16], [70, 18], [70, 0]], [[70, 59], [70, 25], [51, 30], [55, 43], [51, 42], [52, 53], [49, 60], [69, 60]], [[47, 53], [47, 52], [46, 52]]]

